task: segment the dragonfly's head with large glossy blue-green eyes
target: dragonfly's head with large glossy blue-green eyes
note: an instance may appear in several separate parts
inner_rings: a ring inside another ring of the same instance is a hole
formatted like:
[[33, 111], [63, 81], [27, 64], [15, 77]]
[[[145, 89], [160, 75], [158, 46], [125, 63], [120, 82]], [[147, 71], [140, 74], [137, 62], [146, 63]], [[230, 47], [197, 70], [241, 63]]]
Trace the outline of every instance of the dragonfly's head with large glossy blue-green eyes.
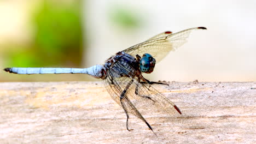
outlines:
[[155, 58], [153, 58], [148, 53], [145, 53], [142, 56], [141, 61], [139, 61], [139, 69], [143, 73], [150, 74], [153, 72], [154, 68], [155, 68]]

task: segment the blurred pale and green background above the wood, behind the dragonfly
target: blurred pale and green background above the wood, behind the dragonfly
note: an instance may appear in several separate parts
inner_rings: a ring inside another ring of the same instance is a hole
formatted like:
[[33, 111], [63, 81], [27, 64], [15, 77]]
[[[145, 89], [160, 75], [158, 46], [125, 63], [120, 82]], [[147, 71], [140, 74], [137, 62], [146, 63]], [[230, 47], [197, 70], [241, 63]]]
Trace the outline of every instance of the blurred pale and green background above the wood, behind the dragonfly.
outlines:
[[[0, 67], [85, 68], [164, 31], [194, 31], [150, 80], [256, 81], [256, 1], [0, 1]], [[86, 81], [82, 74], [0, 81]]]

